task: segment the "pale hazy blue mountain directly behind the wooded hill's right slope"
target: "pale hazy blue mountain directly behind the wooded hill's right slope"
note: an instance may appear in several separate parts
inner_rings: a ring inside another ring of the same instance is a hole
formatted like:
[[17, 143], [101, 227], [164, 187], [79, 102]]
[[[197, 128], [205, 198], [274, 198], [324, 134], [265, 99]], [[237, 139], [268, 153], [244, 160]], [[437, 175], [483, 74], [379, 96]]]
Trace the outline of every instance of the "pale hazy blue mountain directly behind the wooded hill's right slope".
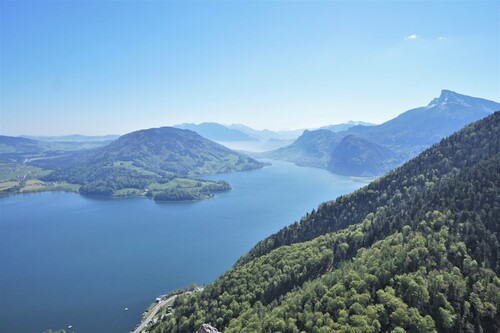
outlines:
[[218, 123], [180, 124], [176, 128], [188, 129], [212, 141], [255, 141], [256, 138]]

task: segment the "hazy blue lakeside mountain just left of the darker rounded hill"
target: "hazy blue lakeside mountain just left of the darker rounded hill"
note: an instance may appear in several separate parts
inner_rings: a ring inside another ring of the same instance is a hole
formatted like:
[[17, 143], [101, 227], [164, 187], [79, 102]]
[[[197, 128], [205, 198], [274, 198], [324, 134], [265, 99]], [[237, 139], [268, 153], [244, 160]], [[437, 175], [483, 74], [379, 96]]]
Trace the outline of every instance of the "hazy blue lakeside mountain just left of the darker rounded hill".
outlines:
[[263, 156], [271, 159], [294, 162], [301, 166], [326, 168], [330, 152], [343, 136], [329, 130], [305, 130], [291, 145], [267, 152]]

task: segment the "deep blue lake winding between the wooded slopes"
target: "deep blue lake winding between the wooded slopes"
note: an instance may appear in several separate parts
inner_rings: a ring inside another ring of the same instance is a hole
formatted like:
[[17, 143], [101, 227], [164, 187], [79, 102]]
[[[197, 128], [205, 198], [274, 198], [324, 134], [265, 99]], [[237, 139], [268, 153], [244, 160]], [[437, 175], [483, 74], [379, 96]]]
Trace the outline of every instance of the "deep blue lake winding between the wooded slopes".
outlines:
[[210, 283], [259, 240], [363, 185], [284, 162], [207, 178], [233, 190], [192, 203], [0, 199], [0, 332], [128, 332], [158, 295]]

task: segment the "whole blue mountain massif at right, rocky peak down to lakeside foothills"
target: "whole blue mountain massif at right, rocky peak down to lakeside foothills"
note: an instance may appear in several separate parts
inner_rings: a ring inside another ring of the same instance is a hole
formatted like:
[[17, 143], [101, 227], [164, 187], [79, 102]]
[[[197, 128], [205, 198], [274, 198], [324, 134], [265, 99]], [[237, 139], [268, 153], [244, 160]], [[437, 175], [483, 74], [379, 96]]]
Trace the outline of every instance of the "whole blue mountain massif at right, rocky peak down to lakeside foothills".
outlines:
[[499, 103], [443, 90], [427, 106], [381, 125], [356, 125], [332, 134], [324, 129], [305, 131], [291, 145], [261, 156], [349, 176], [381, 175], [497, 110]]

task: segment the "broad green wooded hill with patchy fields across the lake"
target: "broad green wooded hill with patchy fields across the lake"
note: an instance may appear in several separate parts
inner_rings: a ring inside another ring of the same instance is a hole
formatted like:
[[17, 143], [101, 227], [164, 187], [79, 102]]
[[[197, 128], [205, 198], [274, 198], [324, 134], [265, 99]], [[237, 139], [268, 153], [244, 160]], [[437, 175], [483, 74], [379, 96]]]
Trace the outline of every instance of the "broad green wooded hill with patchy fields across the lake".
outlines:
[[[151, 191], [152, 188], [164, 188], [161, 184], [179, 177], [193, 178], [264, 166], [193, 131], [173, 127], [128, 133], [105, 147], [79, 151], [59, 159], [36, 160], [32, 164], [55, 170], [44, 180], [81, 184], [81, 193], [102, 195], [120, 194], [123, 191], [117, 191], [124, 189], [130, 189], [131, 193], [144, 189]], [[157, 185], [150, 188], [151, 184]]]

